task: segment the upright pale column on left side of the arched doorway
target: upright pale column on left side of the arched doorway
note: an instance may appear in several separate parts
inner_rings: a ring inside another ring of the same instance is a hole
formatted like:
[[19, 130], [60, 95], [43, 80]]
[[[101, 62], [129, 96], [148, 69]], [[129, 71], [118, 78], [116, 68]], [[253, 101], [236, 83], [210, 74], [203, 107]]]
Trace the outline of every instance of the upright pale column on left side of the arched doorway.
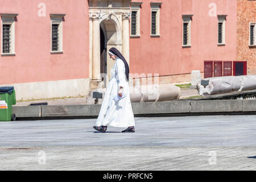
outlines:
[[92, 14], [92, 80], [101, 80], [101, 56], [100, 56], [100, 14]]

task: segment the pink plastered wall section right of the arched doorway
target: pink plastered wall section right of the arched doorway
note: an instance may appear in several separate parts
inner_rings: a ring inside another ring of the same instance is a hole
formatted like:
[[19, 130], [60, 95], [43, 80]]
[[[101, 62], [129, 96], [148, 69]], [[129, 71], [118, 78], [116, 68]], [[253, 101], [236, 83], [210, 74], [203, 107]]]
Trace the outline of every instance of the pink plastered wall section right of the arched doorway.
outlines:
[[[141, 7], [141, 38], [130, 38], [131, 73], [159, 76], [204, 71], [204, 60], [236, 60], [237, 2], [234, 0], [133, 0]], [[150, 2], [162, 2], [160, 38], [151, 38]], [[210, 3], [217, 15], [226, 16], [225, 46], [217, 46], [218, 19], [210, 17]], [[191, 48], [182, 48], [183, 18], [192, 14]]]

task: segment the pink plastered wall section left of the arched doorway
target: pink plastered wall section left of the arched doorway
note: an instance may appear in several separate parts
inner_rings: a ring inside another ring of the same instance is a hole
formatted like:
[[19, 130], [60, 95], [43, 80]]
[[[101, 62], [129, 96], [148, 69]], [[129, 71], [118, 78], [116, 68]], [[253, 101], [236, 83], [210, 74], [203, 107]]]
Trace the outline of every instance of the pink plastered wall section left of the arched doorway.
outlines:
[[[42, 2], [46, 4], [45, 17], [38, 16], [41, 9], [38, 5]], [[1, 0], [0, 13], [19, 14], [15, 22], [16, 55], [0, 56], [0, 84], [89, 77], [87, 1]], [[51, 54], [49, 14], [66, 14], [63, 22], [63, 54]]]

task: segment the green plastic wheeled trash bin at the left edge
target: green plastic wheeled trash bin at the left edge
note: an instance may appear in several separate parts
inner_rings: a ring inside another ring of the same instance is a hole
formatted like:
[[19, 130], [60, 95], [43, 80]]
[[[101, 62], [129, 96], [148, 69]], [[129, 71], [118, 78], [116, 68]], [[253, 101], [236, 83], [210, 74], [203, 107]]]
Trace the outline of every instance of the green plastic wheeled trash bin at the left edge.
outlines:
[[0, 87], [0, 121], [15, 121], [15, 114], [13, 114], [13, 105], [15, 104], [16, 97], [14, 87]]

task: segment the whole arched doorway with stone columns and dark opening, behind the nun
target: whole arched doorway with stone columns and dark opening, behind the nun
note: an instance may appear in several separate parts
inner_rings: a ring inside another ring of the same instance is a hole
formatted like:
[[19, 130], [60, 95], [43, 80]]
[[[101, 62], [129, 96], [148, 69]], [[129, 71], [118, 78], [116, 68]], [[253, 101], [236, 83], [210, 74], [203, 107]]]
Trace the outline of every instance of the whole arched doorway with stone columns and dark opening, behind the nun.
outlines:
[[[93, 1], [93, 0], [92, 0]], [[124, 0], [125, 1], [125, 0]], [[114, 1], [113, 1], [114, 2]], [[129, 5], [129, 3], [127, 3]], [[129, 64], [129, 17], [130, 9], [115, 7], [101, 9], [89, 8], [89, 76], [90, 88], [96, 89], [102, 84], [106, 87], [111, 76], [114, 61], [110, 60], [108, 50], [117, 48]], [[105, 42], [104, 42], [105, 39]]]

